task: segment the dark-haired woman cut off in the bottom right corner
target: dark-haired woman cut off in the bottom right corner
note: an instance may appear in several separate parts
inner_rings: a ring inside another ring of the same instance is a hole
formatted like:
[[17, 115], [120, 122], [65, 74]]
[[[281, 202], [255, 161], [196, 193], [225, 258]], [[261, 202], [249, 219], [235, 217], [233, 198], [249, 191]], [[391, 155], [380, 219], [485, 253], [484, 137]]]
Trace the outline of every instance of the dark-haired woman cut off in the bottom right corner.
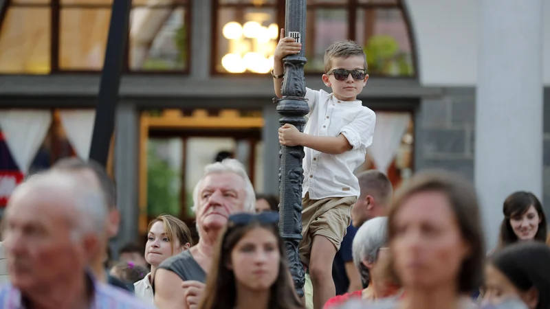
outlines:
[[521, 299], [529, 309], [550, 308], [550, 247], [520, 242], [497, 251], [485, 265], [485, 303]]

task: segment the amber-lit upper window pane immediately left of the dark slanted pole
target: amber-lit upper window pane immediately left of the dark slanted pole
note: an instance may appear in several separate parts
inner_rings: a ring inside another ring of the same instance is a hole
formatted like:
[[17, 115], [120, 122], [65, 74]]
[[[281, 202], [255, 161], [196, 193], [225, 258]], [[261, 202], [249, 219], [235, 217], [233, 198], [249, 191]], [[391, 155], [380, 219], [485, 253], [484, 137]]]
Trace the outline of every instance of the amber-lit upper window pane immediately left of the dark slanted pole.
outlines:
[[61, 9], [59, 67], [100, 70], [110, 21], [111, 10], [107, 8]]

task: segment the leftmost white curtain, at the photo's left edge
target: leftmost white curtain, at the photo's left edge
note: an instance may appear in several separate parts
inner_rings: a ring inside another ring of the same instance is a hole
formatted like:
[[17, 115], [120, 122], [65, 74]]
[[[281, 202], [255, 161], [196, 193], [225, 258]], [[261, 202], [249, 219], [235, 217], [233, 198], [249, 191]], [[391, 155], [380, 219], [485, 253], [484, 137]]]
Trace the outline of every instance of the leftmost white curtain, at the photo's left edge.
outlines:
[[11, 109], [0, 111], [0, 129], [10, 154], [23, 174], [29, 172], [52, 124], [52, 111]]

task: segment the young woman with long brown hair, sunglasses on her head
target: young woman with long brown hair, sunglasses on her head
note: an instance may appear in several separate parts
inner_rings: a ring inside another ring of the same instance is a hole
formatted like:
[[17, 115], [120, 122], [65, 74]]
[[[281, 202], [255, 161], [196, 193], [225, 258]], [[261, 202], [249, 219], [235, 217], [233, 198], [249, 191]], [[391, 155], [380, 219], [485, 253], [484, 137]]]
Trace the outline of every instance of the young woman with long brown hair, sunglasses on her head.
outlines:
[[278, 214], [233, 214], [214, 251], [199, 309], [298, 309]]

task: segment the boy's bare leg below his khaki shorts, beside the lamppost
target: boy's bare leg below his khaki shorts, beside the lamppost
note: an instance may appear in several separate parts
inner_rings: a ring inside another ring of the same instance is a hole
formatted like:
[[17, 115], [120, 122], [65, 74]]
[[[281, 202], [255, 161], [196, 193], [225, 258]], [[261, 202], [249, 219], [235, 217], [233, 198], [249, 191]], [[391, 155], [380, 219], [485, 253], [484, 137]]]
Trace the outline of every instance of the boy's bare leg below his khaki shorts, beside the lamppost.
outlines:
[[332, 278], [332, 262], [336, 256], [336, 247], [325, 236], [314, 236], [309, 258], [309, 276], [314, 288], [314, 308], [322, 309], [325, 303], [336, 296], [336, 287]]

